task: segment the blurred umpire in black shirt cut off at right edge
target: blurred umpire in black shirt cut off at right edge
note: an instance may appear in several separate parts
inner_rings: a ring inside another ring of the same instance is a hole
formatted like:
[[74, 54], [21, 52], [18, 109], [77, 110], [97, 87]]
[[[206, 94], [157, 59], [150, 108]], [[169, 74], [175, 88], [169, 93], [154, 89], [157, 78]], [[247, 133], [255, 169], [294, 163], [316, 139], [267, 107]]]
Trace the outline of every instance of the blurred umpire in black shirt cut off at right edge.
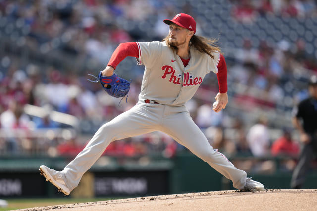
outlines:
[[306, 173], [317, 155], [317, 76], [308, 85], [309, 97], [294, 109], [293, 125], [299, 130], [302, 144], [298, 164], [294, 169], [291, 188], [302, 188]]

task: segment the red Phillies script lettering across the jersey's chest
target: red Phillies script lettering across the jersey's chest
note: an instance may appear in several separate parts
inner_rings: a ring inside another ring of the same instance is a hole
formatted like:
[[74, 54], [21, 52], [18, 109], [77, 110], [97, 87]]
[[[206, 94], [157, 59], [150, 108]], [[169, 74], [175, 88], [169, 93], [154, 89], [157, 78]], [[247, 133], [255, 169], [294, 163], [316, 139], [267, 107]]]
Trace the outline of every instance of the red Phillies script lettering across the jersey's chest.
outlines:
[[[169, 76], [169, 81], [173, 82], [174, 84], [180, 84], [180, 77], [179, 74], [178, 77], [175, 75], [175, 69], [172, 66], [164, 65], [162, 67], [162, 70], [165, 70], [164, 75], [162, 76], [163, 79]], [[203, 82], [201, 77], [195, 77], [193, 78], [192, 74], [189, 75], [189, 73], [184, 74], [184, 80], [183, 80], [183, 86], [190, 86], [190, 85], [197, 85], [201, 84]]]

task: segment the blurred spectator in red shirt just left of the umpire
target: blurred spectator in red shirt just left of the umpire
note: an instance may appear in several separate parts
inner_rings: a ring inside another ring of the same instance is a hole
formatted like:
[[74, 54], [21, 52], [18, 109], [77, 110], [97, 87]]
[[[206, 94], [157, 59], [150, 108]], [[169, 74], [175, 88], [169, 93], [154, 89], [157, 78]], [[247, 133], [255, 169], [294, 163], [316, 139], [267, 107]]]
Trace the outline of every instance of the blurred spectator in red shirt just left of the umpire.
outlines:
[[274, 141], [271, 154], [297, 156], [299, 153], [299, 146], [293, 141], [290, 129], [283, 129], [283, 136]]

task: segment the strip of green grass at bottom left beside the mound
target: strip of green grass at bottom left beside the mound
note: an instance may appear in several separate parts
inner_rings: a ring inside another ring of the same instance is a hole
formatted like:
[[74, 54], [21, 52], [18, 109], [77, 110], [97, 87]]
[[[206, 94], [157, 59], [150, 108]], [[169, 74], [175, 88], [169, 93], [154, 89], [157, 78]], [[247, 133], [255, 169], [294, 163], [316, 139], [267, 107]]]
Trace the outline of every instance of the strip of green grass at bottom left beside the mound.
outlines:
[[113, 198], [27, 198], [27, 199], [5, 199], [8, 202], [8, 207], [0, 208], [0, 211], [16, 210], [24, 208], [51, 206], [51, 205], [64, 205], [82, 202], [97, 202], [112, 199], [122, 199], [126, 197], [113, 197]]

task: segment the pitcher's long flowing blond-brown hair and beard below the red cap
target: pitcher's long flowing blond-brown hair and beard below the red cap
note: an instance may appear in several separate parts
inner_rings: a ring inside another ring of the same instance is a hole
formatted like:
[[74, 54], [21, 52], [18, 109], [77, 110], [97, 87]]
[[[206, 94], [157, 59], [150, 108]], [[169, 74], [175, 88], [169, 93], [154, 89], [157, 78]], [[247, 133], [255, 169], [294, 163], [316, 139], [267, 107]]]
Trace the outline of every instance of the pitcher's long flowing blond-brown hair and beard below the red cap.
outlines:
[[[178, 53], [178, 48], [174, 45], [171, 45], [169, 42], [169, 35], [167, 35], [163, 41], [166, 41], [168, 47], [171, 47], [173, 50]], [[193, 35], [190, 39], [189, 46], [195, 47], [199, 52], [208, 54], [213, 58], [212, 53], [215, 51], [221, 52], [221, 49], [215, 43], [218, 39], [205, 38], [203, 36]]]

